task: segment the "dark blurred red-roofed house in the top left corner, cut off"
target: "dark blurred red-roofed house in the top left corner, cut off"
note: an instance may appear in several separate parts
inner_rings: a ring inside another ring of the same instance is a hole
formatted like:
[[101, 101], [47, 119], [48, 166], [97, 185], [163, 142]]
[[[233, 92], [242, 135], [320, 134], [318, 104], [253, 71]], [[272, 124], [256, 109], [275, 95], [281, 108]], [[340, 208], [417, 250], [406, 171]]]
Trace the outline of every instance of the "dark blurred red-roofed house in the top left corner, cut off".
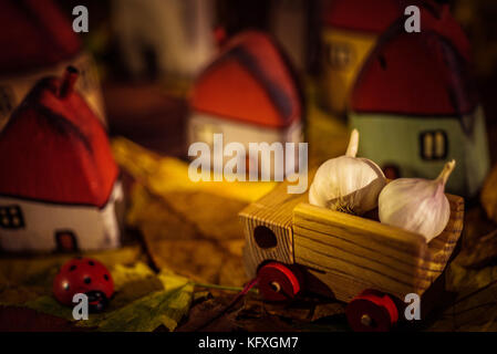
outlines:
[[0, 1], [0, 131], [38, 80], [60, 75], [68, 65], [77, 67], [77, 90], [105, 121], [93, 59], [51, 0]]

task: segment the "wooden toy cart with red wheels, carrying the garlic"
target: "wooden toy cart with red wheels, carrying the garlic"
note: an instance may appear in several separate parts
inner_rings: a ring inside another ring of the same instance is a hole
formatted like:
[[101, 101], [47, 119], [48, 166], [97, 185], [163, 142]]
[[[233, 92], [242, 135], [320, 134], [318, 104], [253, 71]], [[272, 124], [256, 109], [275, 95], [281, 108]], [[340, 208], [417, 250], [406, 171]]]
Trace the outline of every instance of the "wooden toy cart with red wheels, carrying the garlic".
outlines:
[[429, 243], [421, 235], [308, 204], [280, 184], [240, 214], [244, 264], [268, 301], [302, 290], [348, 302], [354, 331], [387, 331], [408, 293], [422, 296], [442, 274], [463, 229], [464, 199], [447, 195], [451, 219]]

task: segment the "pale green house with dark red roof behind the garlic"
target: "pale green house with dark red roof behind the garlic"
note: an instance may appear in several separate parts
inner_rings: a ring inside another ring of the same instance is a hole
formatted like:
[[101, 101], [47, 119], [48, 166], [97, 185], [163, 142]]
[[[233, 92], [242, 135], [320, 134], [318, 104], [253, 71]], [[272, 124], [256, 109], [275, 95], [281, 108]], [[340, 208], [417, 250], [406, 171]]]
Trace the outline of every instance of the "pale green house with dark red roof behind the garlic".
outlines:
[[454, 158], [447, 190], [474, 196], [489, 157], [469, 44], [447, 8], [438, 17], [423, 11], [422, 29], [380, 40], [358, 76], [350, 123], [361, 133], [361, 156], [389, 177], [434, 178]]

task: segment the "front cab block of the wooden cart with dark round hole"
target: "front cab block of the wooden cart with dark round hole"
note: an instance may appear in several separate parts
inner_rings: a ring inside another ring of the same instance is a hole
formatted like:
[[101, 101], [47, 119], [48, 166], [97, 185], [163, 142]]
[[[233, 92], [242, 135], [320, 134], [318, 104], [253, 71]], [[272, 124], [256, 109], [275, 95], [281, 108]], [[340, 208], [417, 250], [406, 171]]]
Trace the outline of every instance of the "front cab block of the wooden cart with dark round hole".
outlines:
[[[307, 194], [288, 194], [287, 186], [287, 183], [278, 185], [239, 212], [245, 232], [244, 266], [250, 278], [256, 275], [258, 267], [265, 261], [294, 262], [292, 212], [296, 205], [307, 200]], [[257, 242], [257, 230], [262, 231], [262, 235], [272, 232], [275, 244], [261, 247]]]

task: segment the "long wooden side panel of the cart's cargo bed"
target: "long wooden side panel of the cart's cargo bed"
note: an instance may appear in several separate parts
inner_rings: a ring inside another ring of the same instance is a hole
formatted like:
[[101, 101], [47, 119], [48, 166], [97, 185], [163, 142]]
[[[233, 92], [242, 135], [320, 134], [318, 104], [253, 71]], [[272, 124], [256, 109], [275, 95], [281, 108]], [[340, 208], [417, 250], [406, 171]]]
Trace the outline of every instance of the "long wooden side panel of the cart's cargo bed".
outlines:
[[369, 288], [403, 298], [431, 284], [418, 271], [427, 252], [424, 238], [400, 228], [299, 204], [293, 242], [296, 263], [342, 301]]

